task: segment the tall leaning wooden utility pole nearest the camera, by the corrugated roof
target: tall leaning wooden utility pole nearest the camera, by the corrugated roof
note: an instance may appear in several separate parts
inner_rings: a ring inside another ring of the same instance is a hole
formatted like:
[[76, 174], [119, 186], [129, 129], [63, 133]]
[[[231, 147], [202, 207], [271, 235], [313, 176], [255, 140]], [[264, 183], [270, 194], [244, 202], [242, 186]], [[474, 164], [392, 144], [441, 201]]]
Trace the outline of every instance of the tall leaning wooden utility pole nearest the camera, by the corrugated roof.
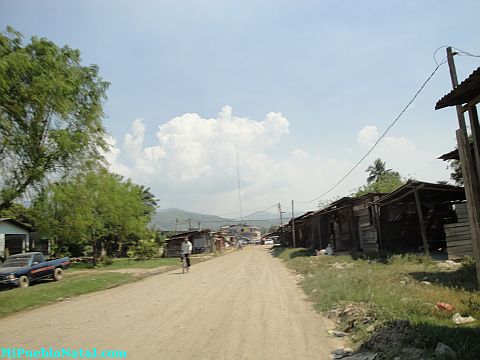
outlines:
[[[454, 53], [452, 48], [447, 48], [447, 61], [450, 69], [450, 77], [452, 80], [452, 86], [455, 89], [458, 86], [457, 73], [455, 69], [455, 62], [453, 60]], [[470, 111], [470, 108], [475, 108], [475, 105], [469, 107], [470, 122], [472, 123], [473, 136], [479, 137], [478, 133], [478, 118], [475, 113]], [[480, 169], [475, 169], [475, 161], [472, 158], [470, 151], [470, 142], [468, 140], [467, 127], [465, 124], [464, 111], [461, 105], [456, 106], [457, 118], [460, 129], [456, 131], [458, 155], [460, 158], [460, 165], [462, 168], [463, 184], [465, 188], [465, 195], [467, 198], [468, 218], [470, 224], [470, 236], [472, 239], [473, 254], [475, 257], [475, 267], [477, 271], [477, 283], [480, 285]], [[473, 117], [472, 117], [473, 116]], [[476, 120], [476, 121], [475, 121]], [[477, 151], [478, 159], [478, 149]]]

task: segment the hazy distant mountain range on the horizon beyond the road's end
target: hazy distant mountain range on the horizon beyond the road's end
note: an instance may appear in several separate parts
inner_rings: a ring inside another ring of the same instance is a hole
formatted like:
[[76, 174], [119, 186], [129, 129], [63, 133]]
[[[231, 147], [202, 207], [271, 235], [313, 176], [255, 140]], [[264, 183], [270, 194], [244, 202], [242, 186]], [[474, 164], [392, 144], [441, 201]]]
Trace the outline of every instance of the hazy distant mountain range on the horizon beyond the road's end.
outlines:
[[[288, 220], [284, 220], [284, 223]], [[163, 231], [174, 231], [175, 223], [178, 231], [188, 231], [198, 229], [199, 223], [201, 229], [218, 230], [225, 225], [238, 224], [240, 221], [219, 217], [216, 215], [207, 215], [185, 211], [181, 209], [160, 209], [153, 216], [152, 226]], [[246, 223], [259, 228], [269, 229], [272, 225], [279, 225], [278, 214], [262, 212], [245, 218], [242, 223]]]

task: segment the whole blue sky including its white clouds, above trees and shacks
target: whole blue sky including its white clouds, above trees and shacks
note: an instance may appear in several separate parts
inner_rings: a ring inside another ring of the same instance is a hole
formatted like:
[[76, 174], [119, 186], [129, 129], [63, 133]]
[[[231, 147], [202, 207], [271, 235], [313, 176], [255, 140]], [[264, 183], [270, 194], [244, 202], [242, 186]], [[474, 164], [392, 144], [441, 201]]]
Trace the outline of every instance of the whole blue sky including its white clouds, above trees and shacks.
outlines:
[[[395, 119], [450, 45], [480, 54], [480, 2], [6, 1], [0, 25], [81, 50], [111, 82], [111, 169], [162, 208], [243, 215], [328, 190]], [[437, 52], [438, 61], [445, 49]], [[480, 58], [455, 58], [459, 79]], [[448, 180], [455, 146], [442, 66], [378, 148], [325, 199], [365, 183], [376, 157]], [[222, 110], [223, 109], [223, 110]], [[315, 209], [317, 202], [298, 204]]]

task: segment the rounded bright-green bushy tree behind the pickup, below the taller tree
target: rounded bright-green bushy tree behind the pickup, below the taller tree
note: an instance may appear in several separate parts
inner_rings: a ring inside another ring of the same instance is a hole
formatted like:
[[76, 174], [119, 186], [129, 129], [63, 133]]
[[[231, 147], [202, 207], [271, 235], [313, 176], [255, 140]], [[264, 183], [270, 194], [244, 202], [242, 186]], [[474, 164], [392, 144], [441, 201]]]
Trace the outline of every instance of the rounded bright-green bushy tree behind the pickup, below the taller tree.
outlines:
[[79, 174], [51, 184], [34, 202], [43, 236], [55, 239], [58, 251], [79, 254], [124, 250], [153, 236], [148, 224], [153, 211], [144, 202], [142, 186], [106, 169]]

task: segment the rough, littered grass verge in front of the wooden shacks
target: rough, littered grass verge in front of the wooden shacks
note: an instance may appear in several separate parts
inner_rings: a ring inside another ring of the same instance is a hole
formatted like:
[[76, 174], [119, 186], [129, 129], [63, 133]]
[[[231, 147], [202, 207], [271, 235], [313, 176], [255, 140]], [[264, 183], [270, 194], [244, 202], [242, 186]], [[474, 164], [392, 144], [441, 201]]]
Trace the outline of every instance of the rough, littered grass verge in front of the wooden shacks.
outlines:
[[[357, 347], [372, 336], [367, 327], [381, 328], [396, 320], [407, 320], [415, 345], [432, 358], [439, 342], [457, 351], [461, 359], [478, 359], [480, 353], [480, 292], [471, 264], [452, 271], [429, 258], [394, 255], [383, 258], [355, 256], [311, 256], [305, 249], [276, 249], [274, 255], [302, 276], [303, 287], [320, 312], [347, 304], [364, 304], [371, 322], [357, 321], [351, 339]], [[422, 285], [428, 281], [431, 285]], [[454, 312], [473, 316], [476, 322], [456, 325], [452, 313], [439, 311], [443, 301]], [[345, 324], [341, 324], [345, 325]], [[399, 349], [391, 349], [389, 356]]]

